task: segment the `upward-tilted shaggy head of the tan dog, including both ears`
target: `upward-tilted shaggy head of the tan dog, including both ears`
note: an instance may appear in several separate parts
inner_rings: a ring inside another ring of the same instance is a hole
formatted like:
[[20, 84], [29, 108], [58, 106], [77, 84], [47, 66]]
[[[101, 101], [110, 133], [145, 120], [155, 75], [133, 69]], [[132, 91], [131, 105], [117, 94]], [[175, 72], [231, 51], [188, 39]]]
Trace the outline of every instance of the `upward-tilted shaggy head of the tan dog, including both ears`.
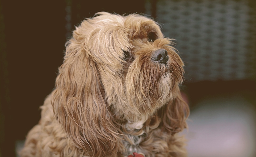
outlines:
[[121, 151], [120, 124], [156, 114], [163, 131], [185, 127], [183, 63], [172, 44], [156, 22], [136, 14], [99, 12], [76, 27], [52, 94], [76, 147], [95, 156]]

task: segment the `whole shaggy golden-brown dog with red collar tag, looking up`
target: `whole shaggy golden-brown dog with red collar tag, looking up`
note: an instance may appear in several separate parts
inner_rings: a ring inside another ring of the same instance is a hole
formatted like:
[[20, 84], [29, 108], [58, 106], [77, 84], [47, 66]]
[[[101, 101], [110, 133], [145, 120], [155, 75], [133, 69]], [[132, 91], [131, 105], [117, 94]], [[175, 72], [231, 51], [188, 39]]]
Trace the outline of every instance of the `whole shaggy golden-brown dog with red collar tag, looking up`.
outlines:
[[173, 39], [139, 14], [98, 12], [66, 43], [22, 157], [180, 157], [189, 107]]

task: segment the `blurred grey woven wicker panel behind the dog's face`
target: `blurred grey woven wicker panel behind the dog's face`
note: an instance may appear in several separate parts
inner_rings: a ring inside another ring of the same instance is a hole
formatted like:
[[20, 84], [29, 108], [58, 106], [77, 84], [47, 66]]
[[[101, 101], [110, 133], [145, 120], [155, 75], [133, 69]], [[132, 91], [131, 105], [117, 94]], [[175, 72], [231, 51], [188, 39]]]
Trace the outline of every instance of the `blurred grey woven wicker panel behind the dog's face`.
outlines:
[[[156, 21], [176, 39], [187, 82], [255, 79], [253, 7], [243, 0], [158, 1]], [[150, 14], [149, 2], [145, 8]]]

